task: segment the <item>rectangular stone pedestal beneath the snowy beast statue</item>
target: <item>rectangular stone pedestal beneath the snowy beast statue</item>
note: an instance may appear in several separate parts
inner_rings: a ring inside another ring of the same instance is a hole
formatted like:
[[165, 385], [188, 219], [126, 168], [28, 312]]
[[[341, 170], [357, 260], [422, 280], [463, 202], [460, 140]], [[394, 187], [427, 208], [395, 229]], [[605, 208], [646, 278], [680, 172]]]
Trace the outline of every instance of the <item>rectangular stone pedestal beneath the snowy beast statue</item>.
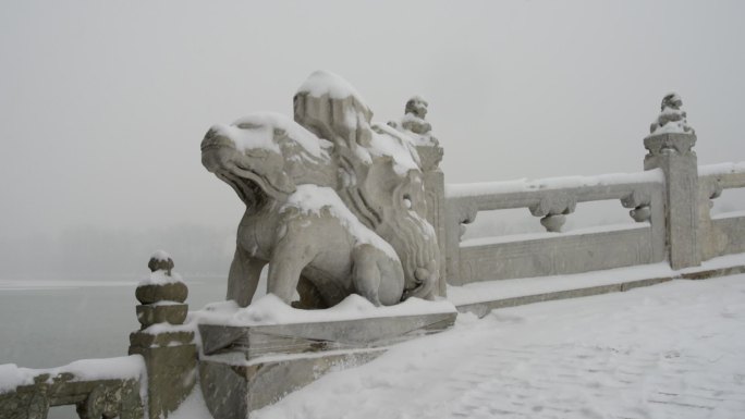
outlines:
[[386, 347], [441, 332], [455, 311], [318, 323], [200, 324], [199, 381], [215, 419], [245, 419], [327, 372], [365, 363]]

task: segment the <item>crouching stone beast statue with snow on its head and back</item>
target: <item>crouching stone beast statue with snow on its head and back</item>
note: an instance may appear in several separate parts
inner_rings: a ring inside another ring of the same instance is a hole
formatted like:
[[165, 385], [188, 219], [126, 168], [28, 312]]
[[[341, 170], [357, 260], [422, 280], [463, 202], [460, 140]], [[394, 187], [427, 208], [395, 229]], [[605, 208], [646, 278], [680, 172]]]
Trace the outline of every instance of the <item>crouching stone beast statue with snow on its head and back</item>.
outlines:
[[375, 305], [433, 298], [440, 252], [413, 139], [371, 123], [345, 81], [316, 72], [294, 98], [294, 121], [261, 113], [215, 125], [205, 168], [246, 205], [228, 299], [247, 306], [269, 263], [267, 291], [303, 308], [350, 294]]

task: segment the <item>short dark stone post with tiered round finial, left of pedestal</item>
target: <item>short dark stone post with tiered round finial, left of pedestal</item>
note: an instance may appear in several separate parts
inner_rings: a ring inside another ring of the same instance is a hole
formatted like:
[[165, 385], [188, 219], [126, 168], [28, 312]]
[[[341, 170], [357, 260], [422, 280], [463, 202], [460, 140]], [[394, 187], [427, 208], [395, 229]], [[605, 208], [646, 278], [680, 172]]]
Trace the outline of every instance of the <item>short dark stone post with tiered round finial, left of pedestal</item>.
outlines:
[[183, 304], [188, 288], [173, 260], [157, 251], [148, 263], [150, 278], [137, 286], [141, 330], [130, 334], [130, 355], [139, 354], [147, 367], [149, 418], [166, 418], [188, 396], [196, 382], [197, 350], [194, 332], [182, 324], [188, 312]]

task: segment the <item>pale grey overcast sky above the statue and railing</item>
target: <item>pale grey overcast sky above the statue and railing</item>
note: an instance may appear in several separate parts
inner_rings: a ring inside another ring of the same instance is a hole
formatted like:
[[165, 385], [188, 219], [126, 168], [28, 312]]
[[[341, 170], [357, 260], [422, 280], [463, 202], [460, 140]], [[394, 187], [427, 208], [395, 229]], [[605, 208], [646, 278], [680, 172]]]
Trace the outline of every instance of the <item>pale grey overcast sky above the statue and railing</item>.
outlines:
[[699, 163], [745, 160], [743, 1], [0, 2], [0, 232], [235, 225], [213, 123], [305, 77], [429, 100], [447, 182], [634, 172], [677, 91]]

